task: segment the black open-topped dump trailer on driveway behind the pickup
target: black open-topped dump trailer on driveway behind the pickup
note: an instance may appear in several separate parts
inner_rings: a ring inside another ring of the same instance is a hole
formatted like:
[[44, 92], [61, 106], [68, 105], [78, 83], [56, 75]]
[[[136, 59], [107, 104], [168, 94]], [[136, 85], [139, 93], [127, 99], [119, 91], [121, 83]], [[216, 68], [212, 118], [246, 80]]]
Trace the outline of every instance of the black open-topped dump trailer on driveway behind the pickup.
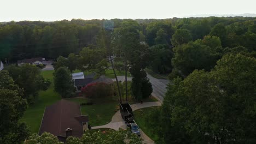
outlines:
[[129, 103], [120, 104], [120, 113], [125, 122], [133, 121], [133, 112]]

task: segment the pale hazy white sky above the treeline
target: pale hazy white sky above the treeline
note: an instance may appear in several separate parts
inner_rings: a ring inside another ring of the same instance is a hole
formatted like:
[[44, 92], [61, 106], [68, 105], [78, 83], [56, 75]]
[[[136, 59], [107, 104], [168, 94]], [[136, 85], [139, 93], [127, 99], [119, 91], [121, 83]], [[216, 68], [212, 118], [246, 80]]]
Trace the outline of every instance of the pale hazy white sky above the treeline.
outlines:
[[0, 21], [164, 19], [256, 13], [256, 0], [0, 0]]

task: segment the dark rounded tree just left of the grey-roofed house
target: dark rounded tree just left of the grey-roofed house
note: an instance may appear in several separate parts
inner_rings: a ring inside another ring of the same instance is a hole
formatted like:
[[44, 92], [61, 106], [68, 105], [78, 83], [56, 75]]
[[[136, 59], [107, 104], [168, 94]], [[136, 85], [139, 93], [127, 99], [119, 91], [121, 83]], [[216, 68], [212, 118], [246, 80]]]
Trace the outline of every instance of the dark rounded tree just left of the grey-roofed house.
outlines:
[[63, 98], [70, 98], [74, 95], [74, 81], [67, 68], [60, 67], [54, 72], [54, 89]]

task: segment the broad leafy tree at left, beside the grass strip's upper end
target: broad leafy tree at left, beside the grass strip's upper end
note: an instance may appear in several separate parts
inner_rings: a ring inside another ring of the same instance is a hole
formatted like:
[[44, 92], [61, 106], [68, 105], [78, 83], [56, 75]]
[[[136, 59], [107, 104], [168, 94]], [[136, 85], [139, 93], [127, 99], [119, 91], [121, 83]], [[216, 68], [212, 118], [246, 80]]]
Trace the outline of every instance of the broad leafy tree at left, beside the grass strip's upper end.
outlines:
[[40, 74], [40, 69], [35, 65], [11, 65], [7, 70], [14, 82], [24, 89], [22, 98], [27, 99], [28, 103], [33, 103], [34, 98], [37, 97], [40, 90], [45, 91], [48, 89], [50, 82], [43, 78]]

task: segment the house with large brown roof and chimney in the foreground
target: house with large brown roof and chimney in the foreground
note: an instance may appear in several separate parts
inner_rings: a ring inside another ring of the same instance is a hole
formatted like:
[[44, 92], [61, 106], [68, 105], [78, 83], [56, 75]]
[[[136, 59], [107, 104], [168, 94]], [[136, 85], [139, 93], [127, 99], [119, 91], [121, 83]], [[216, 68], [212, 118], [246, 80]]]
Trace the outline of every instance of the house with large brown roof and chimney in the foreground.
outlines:
[[82, 137], [88, 129], [88, 115], [82, 115], [80, 105], [68, 100], [59, 100], [44, 110], [39, 135], [44, 131], [66, 141], [68, 136]]

